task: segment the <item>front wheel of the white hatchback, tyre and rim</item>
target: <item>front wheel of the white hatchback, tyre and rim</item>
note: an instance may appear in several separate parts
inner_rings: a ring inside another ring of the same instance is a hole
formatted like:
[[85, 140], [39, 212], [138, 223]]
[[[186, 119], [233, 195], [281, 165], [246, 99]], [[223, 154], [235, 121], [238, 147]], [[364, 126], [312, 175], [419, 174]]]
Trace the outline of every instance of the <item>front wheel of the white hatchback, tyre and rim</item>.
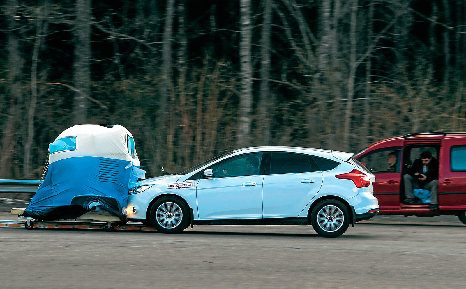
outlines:
[[181, 199], [166, 196], [152, 205], [150, 218], [152, 225], [160, 233], [176, 234], [187, 227], [189, 210]]

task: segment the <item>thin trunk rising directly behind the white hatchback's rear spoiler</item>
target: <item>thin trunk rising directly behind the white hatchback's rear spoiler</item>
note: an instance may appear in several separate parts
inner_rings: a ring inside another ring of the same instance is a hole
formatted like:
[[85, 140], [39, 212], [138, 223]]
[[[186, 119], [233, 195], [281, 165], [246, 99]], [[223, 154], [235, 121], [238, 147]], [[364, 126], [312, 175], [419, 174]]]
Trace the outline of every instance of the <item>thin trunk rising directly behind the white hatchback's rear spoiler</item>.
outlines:
[[354, 97], [354, 82], [356, 78], [356, 15], [357, 15], [357, 0], [353, 0], [351, 7], [351, 20], [349, 28], [349, 76], [348, 76], [348, 96], [346, 101], [346, 112], [343, 132], [343, 148], [349, 150], [349, 134], [351, 131], [351, 114], [353, 108]]

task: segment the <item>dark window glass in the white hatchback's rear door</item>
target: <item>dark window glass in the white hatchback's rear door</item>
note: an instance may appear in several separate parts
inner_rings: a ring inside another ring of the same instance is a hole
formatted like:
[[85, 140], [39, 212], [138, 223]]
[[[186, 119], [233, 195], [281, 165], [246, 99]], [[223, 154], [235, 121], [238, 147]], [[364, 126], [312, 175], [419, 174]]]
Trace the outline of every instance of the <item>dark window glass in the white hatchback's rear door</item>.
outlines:
[[291, 153], [270, 154], [270, 175], [295, 174], [319, 171], [319, 168], [311, 164], [306, 155]]

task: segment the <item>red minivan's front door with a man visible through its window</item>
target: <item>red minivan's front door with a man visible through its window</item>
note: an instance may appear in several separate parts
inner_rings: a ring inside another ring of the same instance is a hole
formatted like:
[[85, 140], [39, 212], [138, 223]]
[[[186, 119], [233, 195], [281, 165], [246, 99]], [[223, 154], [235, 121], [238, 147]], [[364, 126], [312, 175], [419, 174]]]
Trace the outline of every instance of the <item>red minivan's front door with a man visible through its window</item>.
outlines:
[[[396, 163], [390, 163], [391, 156], [396, 156]], [[399, 209], [401, 184], [401, 147], [380, 148], [357, 158], [366, 164], [376, 176], [372, 183], [374, 196], [377, 197], [380, 210]]]

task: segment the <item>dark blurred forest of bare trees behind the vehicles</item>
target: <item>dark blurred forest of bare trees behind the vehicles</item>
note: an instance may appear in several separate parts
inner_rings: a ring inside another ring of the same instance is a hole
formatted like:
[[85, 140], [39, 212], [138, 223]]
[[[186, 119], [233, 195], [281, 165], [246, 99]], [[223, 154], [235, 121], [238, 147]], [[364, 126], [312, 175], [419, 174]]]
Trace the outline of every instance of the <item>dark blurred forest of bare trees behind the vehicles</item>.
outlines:
[[466, 131], [465, 0], [1, 0], [0, 178], [75, 124], [142, 168], [258, 145], [356, 152]]

